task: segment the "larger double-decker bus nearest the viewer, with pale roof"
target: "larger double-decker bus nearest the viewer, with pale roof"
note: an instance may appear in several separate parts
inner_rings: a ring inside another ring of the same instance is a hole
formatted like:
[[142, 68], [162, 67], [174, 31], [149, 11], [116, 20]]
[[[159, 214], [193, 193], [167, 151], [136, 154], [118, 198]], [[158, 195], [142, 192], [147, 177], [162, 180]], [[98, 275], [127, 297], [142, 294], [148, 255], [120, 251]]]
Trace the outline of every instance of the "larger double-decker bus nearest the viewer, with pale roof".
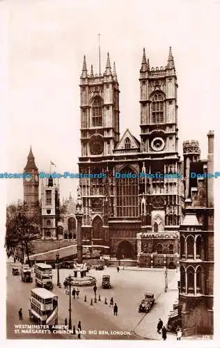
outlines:
[[36, 287], [31, 290], [30, 301], [30, 319], [38, 324], [49, 325], [49, 329], [58, 324], [58, 296], [47, 289]]

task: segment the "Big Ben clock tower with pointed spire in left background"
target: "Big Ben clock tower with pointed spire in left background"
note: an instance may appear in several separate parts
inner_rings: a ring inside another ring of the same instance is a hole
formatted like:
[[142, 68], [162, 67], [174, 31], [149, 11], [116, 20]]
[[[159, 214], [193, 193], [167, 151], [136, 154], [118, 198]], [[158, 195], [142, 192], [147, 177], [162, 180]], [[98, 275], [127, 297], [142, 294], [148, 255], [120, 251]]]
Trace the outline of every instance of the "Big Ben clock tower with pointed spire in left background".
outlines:
[[35, 164], [32, 149], [30, 148], [29, 156], [27, 157], [27, 164], [24, 168], [24, 173], [31, 173], [31, 178], [26, 177], [23, 180], [24, 187], [24, 202], [27, 205], [27, 214], [31, 218], [34, 215], [34, 210], [38, 206], [39, 196], [39, 175], [38, 168]]

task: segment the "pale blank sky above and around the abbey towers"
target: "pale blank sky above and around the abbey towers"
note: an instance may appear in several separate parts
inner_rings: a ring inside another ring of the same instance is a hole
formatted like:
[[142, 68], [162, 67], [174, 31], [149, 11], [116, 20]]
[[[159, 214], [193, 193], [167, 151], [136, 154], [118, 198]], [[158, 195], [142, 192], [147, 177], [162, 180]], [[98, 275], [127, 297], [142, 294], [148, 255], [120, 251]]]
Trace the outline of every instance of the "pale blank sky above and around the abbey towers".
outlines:
[[[207, 157], [207, 132], [217, 129], [217, 1], [8, 1], [8, 125], [6, 166], [22, 173], [30, 145], [39, 171], [77, 173], [79, 78], [101, 70], [110, 54], [120, 85], [120, 134], [139, 138], [139, 70], [143, 47], [150, 67], [166, 65], [171, 46], [178, 76], [179, 152], [196, 139]], [[77, 179], [61, 180], [61, 198]], [[22, 180], [8, 180], [7, 203], [23, 198]]]

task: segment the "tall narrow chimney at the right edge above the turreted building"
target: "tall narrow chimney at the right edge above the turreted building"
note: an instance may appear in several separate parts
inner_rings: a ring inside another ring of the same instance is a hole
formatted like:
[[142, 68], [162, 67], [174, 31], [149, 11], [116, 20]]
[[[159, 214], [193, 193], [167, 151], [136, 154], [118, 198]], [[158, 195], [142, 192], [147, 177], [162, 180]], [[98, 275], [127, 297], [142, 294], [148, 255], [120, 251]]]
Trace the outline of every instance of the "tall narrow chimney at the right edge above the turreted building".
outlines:
[[[207, 173], [214, 173], [214, 131], [207, 134]], [[207, 178], [207, 206], [214, 207], [214, 178]]]

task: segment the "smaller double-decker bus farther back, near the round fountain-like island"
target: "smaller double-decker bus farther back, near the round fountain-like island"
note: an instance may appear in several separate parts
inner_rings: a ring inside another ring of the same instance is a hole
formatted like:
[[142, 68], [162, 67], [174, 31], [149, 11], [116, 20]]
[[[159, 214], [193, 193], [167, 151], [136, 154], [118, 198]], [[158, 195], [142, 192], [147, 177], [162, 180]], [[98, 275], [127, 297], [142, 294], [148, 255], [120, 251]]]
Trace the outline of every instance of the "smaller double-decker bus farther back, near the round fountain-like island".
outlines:
[[36, 263], [35, 275], [36, 285], [40, 287], [45, 287], [48, 290], [53, 289], [52, 266], [50, 264]]

